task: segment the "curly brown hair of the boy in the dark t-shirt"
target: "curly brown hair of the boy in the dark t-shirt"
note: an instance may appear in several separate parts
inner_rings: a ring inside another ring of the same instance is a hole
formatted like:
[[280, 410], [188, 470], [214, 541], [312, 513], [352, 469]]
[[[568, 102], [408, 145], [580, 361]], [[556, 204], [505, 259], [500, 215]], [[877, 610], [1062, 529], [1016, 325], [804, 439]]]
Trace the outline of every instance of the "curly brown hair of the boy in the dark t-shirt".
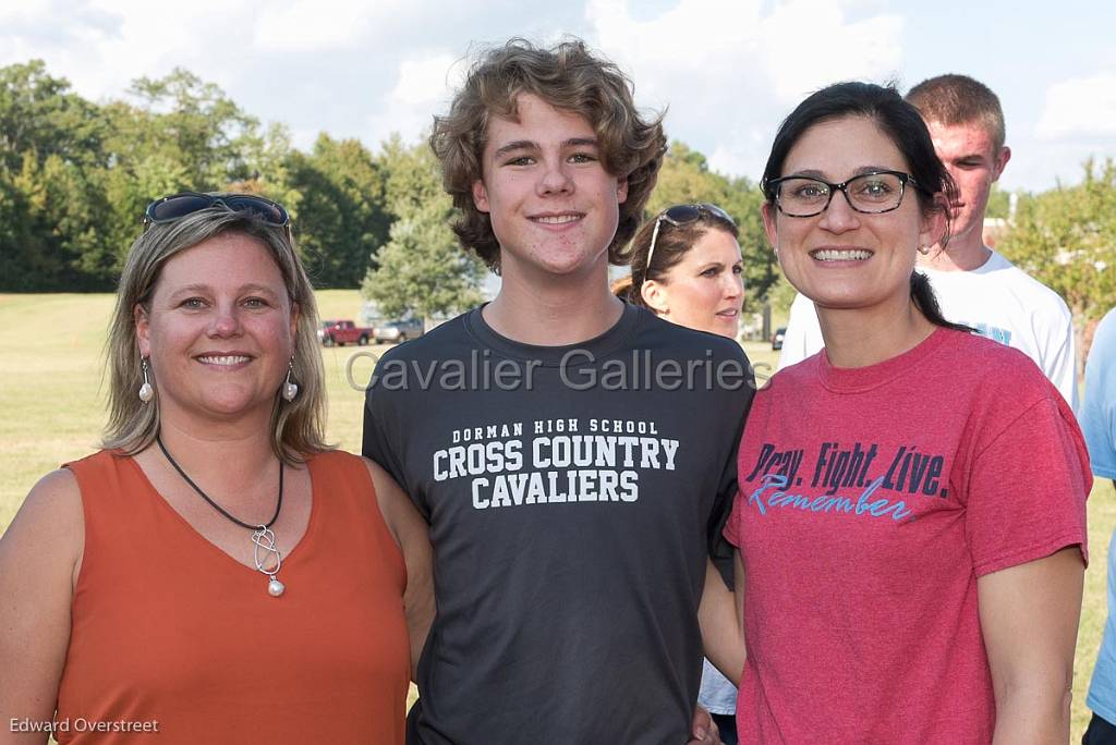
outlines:
[[519, 96], [532, 94], [555, 108], [585, 117], [597, 135], [605, 171], [627, 180], [627, 199], [619, 205], [619, 224], [608, 246], [609, 262], [624, 263], [620, 251], [639, 224], [666, 152], [662, 115], [643, 118], [632, 88], [615, 64], [595, 56], [578, 39], [543, 49], [514, 38], [481, 55], [450, 113], [434, 117], [430, 136], [442, 163], [445, 191], [462, 213], [453, 225], [462, 245], [499, 272], [500, 244], [491, 219], [473, 204], [473, 183], [483, 176], [489, 120], [514, 117]]

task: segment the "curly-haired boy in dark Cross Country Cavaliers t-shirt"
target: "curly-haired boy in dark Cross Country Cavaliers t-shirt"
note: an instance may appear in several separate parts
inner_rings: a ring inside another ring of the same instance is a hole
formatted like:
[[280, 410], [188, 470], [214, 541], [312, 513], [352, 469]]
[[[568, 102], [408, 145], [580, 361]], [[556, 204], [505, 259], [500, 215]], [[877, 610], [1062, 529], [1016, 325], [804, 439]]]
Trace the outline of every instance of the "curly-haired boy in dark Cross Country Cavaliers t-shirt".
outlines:
[[512, 40], [431, 142], [458, 235], [503, 282], [388, 352], [368, 391], [364, 454], [435, 553], [408, 742], [701, 741], [699, 606], [752, 379], [731, 340], [609, 291], [661, 124], [581, 42]]

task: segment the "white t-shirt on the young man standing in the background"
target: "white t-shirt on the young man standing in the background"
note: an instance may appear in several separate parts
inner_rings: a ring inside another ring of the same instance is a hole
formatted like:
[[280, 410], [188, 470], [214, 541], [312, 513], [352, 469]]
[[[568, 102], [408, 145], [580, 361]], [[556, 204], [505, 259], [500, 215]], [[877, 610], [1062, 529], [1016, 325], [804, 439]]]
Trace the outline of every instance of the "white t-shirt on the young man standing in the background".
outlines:
[[[947, 320], [1022, 351], [1077, 408], [1072, 318], [1057, 292], [995, 251], [972, 271], [944, 272], [924, 267], [917, 271], [930, 278]], [[798, 294], [790, 307], [779, 369], [800, 362], [824, 346], [814, 303]]]

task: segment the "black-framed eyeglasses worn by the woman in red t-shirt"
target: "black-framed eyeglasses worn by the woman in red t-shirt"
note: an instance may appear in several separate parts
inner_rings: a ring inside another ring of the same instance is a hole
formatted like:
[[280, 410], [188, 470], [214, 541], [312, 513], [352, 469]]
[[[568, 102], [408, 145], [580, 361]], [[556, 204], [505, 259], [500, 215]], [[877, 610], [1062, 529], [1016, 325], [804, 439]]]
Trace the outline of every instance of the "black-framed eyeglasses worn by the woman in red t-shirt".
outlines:
[[864, 214], [898, 210], [907, 184], [918, 185], [914, 176], [902, 171], [872, 171], [839, 184], [814, 176], [783, 176], [767, 182], [763, 191], [788, 217], [812, 217], [829, 209], [838, 191], [850, 207]]

